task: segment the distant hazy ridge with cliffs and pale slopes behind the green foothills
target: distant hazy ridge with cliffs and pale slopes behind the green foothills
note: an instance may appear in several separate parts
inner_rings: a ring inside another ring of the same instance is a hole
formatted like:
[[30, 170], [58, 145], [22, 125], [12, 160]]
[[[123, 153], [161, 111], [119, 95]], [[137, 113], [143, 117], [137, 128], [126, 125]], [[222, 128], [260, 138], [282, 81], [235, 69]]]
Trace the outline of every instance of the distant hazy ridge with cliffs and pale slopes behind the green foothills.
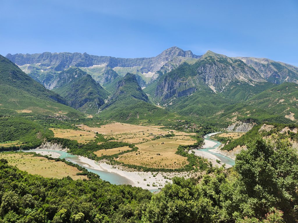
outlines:
[[[94, 56], [87, 53], [49, 52], [42, 54], [7, 54], [6, 57], [20, 66], [33, 79], [48, 88], [48, 83], [52, 81], [55, 74], [71, 66], [86, 68], [86, 71], [88, 70], [93, 78], [104, 84], [108, 83], [107, 81], [113, 81], [113, 78], [107, 78], [109, 75], [115, 76], [109, 68], [126, 70], [125, 73], [129, 71], [134, 74], [145, 74], [147, 79], [150, 79], [152, 76], [156, 78], [158, 76], [156, 72], [168, 62], [171, 62], [168, 67], [172, 69], [185, 60], [198, 59], [201, 56], [194, 55], [191, 51], [183, 51], [178, 47], [171, 47], [150, 58], [116, 58], [112, 56]], [[127, 70], [126, 68], [130, 69]], [[105, 73], [107, 70], [108, 73]], [[141, 77], [138, 77], [137, 80], [142, 87], [145, 87], [146, 80]]]

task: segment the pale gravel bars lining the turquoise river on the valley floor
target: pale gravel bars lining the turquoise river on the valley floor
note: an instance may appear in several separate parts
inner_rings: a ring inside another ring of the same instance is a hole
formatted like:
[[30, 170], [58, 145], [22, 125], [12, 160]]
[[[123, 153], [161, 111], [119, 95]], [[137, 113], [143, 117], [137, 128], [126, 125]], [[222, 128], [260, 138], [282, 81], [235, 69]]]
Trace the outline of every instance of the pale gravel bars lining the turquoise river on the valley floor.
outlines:
[[[209, 134], [209, 136], [211, 136], [212, 134]], [[212, 153], [220, 153], [222, 156], [225, 156], [224, 154], [222, 154], [220, 152], [220, 150], [217, 149], [218, 145], [220, 145], [219, 142], [214, 142], [209, 140], [209, 138], [205, 139], [205, 144], [203, 146], [203, 148], [214, 148], [211, 149], [210, 151]], [[46, 151], [46, 149], [49, 148], [49, 151]], [[56, 150], [57, 152], [53, 151]], [[31, 150], [32, 151], [32, 150]], [[59, 151], [61, 151], [60, 147], [57, 147], [55, 145], [50, 145], [48, 144], [47, 146], [43, 146], [40, 148], [37, 148], [36, 150], [34, 150], [36, 153], [41, 153], [42, 155], [50, 155], [53, 158], [58, 158], [61, 156], [61, 153], [59, 153]], [[212, 154], [209, 153], [208, 150], [203, 151], [203, 150], [191, 150], [195, 152], [196, 156], [202, 156], [203, 158], [207, 158], [208, 161], [210, 161], [212, 163], [213, 166], [222, 166], [225, 163], [225, 160], [222, 158], [219, 158], [218, 156], [216, 156], [216, 154]], [[190, 153], [191, 153], [190, 151]], [[66, 150], [64, 149], [63, 151], [64, 153], [66, 153]], [[162, 188], [164, 187], [164, 185], [168, 182], [172, 182], [171, 178], [173, 178], [174, 176], [178, 176], [178, 177], [185, 177], [185, 178], [190, 178], [190, 177], [196, 177], [198, 175], [201, 175], [202, 173], [200, 172], [172, 172], [172, 173], [168, 173], [168, 172], [139, 172], [139, 171], [135, 171], [134, 169], [128, 169], [126, 167], [123, 166], [113, 166], [110, 164], [107, 164], [104, 160], [101, 162], [96, 162], [92, 159], [86, 158], [84, 156], [75, 156], [77, 158], [77, 160], [75, 161], [75, 163], [89, 168], [89, 171], [91, 170], [99, 170], [99, 171], [103, 171], [105, 172], [107, 175], [109, 175], [108, 173], [112, 173], [112, 174], [116, 174], [116, 175], [112, 175], [112, 177], [117, 177], [117, 176], [121, 176], [127, 179], [126, 183], [130, 184], [132, 186], [136, 186], [136, 187], [141, 187], [143, 189], [148, 189], [148, 190], [154, 190], [154, 189], [158, 189], [158, 188]], [[217, 160], [220, 160], [221, 163], [218, 163]], [[72, 161], [72, 160], [70, 160]], [[230, 164], [226, 164], [226, 167], [232, 167], [232, 165]], [[109, 176], [111, 177], [111, 176]], [[106, 176], [101, 176], [101, 178], [103, 180], [107, 180], [109, 181], [109, 178]]]

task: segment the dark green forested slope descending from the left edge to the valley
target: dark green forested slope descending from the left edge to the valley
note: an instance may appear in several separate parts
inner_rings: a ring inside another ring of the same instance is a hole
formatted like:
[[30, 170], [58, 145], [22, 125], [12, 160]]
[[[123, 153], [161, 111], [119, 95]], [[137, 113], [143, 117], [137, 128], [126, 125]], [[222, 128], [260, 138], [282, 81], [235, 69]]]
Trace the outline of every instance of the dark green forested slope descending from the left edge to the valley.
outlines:
[[67, 101], [51, 92], [21, 71], [13, 62], [0, 55], [1, 115], [30, 113], [31, 115], [81, 116]]

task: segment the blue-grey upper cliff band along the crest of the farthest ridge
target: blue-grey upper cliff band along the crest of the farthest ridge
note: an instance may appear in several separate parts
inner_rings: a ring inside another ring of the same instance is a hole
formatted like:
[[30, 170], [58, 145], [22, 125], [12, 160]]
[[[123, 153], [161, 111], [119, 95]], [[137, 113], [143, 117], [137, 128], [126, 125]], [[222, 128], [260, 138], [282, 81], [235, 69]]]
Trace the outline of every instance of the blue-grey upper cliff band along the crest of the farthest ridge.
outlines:
[[178, 47], [171, 47], [155, 57], [149, 58], [116, 58], [112, 56], [94, 56], [87, 53], [49, 53], [42, 54], [7, 54], [6, 57], [15, 64], [22, 66], [26, 64], [39, 64], [41, 66], [53, 67], [56, 71], [62, 71], [70, 66], [91, 67], [94, 65], [107, 65], [108, 67], [134, 67], [141, 66], [144, 73], [156, 72], [166, 62], [175, 57], [200, 58], [190, 50], [183, 51]]

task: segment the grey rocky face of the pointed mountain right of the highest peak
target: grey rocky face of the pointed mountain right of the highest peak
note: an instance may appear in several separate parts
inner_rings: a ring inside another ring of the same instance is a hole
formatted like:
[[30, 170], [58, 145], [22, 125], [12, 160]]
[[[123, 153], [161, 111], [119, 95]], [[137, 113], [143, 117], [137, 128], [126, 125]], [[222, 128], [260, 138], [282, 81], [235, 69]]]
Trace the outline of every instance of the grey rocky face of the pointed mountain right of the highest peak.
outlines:
[[[184, 62], [170, 72], [160, 75], [150, 84], [156, 84], [154, 92], [147, 92], [157, 102], [188, 96], [198, 89], [222, 92], [231, 82], [266, 82], [257, 71], [242, 60], [207, 51], [193, 65]], [[150, 88], [149, 88], [150, 89]]]

